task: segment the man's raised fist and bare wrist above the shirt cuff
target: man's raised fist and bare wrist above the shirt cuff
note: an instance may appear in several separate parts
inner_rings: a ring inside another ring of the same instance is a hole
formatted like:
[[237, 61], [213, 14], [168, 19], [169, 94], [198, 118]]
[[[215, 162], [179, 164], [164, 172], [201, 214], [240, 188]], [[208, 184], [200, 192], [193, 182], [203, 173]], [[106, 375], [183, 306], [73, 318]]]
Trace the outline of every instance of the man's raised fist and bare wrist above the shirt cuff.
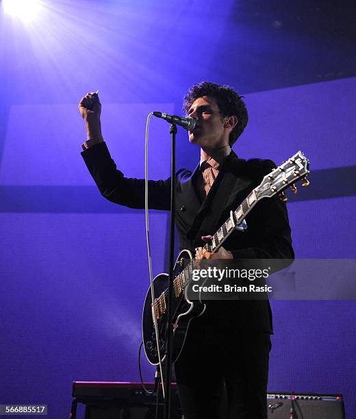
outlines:
[[101, 136], [101, 103], [96, 92], [87, 93], [79, 102], [79, 112], [86, 121], [88, 138]]

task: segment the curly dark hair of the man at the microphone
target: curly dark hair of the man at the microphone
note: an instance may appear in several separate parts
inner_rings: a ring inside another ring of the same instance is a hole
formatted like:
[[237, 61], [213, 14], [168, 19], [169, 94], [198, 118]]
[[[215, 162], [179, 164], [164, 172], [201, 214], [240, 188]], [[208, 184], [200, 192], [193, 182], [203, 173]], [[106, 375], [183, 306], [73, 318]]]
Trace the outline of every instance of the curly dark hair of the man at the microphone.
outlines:
[[203, 81], [199, 84], [194, 84], [188, 90], [186, 96], [183, 97], [183, 112], [188, 114], [192, 103], [203, 96], [214, 98], [223, 116], [234, 115], [238, 118], [238, 123], [229, 136], [229, 144], [232, 145], [240, 137], [249, 120], [246, 105], [242, 101], [243, 96], [240, 96], [230, 86], [221, 86], [220, 84]]

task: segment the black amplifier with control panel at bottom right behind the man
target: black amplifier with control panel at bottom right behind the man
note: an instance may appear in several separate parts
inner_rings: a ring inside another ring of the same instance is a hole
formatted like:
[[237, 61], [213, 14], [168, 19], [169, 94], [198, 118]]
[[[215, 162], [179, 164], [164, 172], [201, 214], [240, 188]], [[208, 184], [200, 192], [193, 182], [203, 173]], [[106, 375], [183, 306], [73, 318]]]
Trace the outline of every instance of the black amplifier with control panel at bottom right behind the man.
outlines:
[[294, 419], [344, 419], [341, 394], [267, 394], [268, 419], [289, 419], [294, 405]]

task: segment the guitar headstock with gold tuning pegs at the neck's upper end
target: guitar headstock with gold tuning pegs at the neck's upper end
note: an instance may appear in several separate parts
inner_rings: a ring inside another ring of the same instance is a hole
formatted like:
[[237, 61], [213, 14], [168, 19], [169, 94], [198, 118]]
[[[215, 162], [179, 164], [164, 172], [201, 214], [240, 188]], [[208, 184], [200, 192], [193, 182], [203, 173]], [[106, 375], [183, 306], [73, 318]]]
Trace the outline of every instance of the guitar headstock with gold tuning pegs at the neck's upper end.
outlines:
[[275, 194], [280, 194], [281, 200], [287, 201], [283, 190], [290, 186], [292, 192], [296, 194], [297, 189], [294, 183], [303, 179], [302, 186], [308, 186], [307, 175], [309, 173], [309, 160], [301, 151], [298, 151], [262, 179], [259, 186], [255, 188], [257, 199], [270, 198]]

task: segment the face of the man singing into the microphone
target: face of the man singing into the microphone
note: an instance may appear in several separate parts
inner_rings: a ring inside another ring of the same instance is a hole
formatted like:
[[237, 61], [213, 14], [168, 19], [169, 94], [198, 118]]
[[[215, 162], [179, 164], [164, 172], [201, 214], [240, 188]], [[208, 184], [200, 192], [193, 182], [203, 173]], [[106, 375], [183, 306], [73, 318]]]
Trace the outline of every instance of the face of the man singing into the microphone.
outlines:
[[203, 96], [195, 99], [190, 105], [188, 115], [196, 120], [196, 128], [189, 131], [189, 141], [203, 149], [215, 149], [229, 144], [227, 129], [227, 117], [223, 117], [216, 100], [212, 97]]

